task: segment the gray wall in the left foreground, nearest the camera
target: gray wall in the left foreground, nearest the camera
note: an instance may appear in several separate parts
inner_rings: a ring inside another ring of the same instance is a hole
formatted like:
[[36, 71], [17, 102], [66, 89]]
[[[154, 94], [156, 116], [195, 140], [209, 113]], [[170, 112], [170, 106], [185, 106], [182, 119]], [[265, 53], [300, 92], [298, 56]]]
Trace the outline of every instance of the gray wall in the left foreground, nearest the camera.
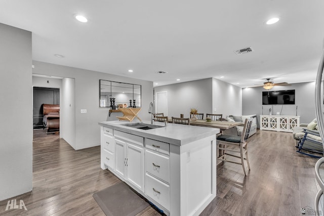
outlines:
[[32, 189], [31, 32], [0, 23], [0, 200]]

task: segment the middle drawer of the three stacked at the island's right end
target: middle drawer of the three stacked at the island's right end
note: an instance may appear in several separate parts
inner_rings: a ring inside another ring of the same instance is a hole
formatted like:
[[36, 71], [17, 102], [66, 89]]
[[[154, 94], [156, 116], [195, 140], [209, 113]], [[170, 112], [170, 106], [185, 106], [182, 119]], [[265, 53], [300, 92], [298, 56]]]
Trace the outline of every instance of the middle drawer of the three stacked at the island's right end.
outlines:
[[167, 183], [170, 182], [170, 158], [149, 150], [145, 152], [146, 171]]

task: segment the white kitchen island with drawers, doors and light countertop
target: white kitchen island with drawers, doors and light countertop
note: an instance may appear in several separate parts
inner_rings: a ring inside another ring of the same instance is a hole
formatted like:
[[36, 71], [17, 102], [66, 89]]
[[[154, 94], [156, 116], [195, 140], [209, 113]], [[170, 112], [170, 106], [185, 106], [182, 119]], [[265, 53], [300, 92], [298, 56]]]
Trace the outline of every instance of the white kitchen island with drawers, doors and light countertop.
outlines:
[[99, 122], [102, 169], [167, 215], [198, 215], [216, 197], [219, 129], [169, 123], [144, 130], [123, 124], [134, 122]]

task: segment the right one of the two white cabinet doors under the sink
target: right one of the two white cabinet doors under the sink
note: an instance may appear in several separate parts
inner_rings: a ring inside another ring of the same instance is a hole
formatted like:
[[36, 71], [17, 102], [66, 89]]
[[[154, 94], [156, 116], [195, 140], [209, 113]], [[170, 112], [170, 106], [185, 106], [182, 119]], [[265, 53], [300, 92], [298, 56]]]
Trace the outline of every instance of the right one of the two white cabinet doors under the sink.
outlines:
[[127, 180], [144, 192], [144, 149], [127, 143]]

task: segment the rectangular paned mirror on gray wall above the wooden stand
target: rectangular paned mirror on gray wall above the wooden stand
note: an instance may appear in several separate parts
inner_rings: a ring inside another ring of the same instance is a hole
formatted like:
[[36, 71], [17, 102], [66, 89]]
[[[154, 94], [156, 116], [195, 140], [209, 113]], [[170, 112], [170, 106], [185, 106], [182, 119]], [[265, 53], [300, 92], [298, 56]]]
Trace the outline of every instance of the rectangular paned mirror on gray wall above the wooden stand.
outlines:
[[100, 79], [99, 87], [99, 107], [141, 107], [141, 85]]

